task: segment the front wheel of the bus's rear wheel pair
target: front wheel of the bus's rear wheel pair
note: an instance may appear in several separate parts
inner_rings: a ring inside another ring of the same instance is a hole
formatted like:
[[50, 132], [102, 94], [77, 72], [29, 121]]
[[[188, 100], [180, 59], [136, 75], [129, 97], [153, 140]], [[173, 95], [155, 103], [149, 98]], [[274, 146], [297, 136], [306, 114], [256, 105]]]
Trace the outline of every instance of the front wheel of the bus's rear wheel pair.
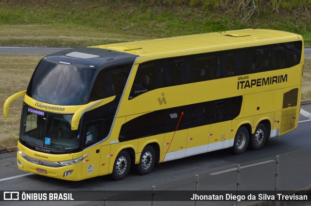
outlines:
[[236, 155], [243, 154], [249, 141], [249, 132], [245, 127], [240, 127], [235, 135], [232, 150]]

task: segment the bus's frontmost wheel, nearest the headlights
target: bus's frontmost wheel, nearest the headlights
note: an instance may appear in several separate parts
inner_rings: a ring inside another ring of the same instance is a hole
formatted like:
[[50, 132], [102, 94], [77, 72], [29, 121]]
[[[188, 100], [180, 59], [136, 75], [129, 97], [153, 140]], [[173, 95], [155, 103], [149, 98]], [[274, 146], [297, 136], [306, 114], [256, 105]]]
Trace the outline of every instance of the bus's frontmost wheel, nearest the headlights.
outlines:
[[114, 180], [121, 180], [130, 171], [131, 167], [131, 156], [126, 150], [122, 150], [113, 164], [112, 177]]

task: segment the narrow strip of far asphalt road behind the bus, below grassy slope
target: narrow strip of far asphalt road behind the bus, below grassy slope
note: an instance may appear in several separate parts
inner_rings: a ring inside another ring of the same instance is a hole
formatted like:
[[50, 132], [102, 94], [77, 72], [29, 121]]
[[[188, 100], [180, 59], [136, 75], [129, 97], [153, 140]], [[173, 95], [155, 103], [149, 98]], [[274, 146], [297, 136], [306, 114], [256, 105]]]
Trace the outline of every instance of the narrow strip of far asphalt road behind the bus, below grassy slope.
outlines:
[[[0, 47], [0, 54], [51, 54], [69, 48]], [[311, 56], [311, 48], [305, 48], [305, 56]]]

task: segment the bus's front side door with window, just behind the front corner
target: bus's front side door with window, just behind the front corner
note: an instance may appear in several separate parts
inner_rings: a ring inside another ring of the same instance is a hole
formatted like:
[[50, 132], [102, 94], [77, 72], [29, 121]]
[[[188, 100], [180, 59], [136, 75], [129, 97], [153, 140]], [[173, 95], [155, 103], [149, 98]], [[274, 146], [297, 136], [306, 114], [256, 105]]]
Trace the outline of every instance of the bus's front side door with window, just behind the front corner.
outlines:
[[[82, 160], [81, 178], [98, 176], [100, 170], [100, 159], [102, 145], [98, 143], [103, 133], [103, 121], [86, 122], [83, 139], [83, 155], [87, 157]], [[98, 144], [96, 144], [98, 143]]]

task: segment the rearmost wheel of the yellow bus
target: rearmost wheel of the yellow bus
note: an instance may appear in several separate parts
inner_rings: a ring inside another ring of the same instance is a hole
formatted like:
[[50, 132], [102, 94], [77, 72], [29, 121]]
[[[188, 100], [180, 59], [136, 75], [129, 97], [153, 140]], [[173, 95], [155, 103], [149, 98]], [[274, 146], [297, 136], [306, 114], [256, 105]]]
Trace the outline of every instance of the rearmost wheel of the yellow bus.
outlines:
[[262, 149], [267, 140], [267, 128], [264, 124], [260, 123], [252, 135], [250, 147], [254, 150]]

